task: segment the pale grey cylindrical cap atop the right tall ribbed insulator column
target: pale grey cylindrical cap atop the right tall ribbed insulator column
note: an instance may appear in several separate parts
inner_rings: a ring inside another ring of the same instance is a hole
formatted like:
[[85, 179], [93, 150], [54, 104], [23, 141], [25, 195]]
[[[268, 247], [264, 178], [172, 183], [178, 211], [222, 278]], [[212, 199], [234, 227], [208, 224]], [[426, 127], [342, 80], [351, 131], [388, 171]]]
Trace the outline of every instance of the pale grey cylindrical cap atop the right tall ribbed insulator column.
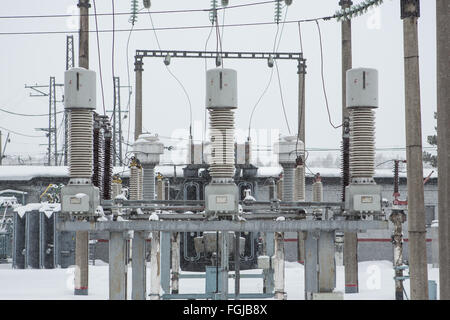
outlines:
[[347, 71], [347, 108], [378, 108], [378, 71], [356, 68]]

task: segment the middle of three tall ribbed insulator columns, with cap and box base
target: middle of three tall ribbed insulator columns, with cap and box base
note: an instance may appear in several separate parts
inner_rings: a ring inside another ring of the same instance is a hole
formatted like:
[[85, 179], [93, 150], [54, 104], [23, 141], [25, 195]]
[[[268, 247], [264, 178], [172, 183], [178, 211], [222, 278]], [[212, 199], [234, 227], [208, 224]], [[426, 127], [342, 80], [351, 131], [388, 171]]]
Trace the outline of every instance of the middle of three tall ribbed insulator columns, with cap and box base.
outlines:
[[212, 181], [205, 187], [208, 216], [238, 212], [239, 191], [233, 181], [234, 111], [237, 108], [237, 73], [215, 68], [206, 73], [206, 107], [210, 115]]

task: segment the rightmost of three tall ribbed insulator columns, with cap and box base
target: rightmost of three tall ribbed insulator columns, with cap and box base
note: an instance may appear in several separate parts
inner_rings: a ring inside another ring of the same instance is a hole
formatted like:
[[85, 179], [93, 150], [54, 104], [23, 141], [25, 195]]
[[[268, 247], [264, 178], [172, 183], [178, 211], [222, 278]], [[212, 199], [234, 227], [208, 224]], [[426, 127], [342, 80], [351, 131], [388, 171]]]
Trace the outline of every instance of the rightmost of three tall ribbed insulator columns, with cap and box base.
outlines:
[[378, 71], [347, 71], [347, 108], [350, 113], [350, 185], [345, 208], [350, 214], [381, 213], [381, 187], [375, 184], [375, 114], [378, 108]]

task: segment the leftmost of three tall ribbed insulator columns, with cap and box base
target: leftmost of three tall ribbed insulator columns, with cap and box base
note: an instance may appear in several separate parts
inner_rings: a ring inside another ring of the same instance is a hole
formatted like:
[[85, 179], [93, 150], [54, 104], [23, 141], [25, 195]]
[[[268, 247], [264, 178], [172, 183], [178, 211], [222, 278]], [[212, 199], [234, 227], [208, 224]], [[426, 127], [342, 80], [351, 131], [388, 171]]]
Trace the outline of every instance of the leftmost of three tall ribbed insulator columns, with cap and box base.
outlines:
[[94, 216], [100, 203], [92, 185], [93, 111], [96, 106], [96, 74], [72, 68], [64, 74], [64, 107], [69, 117], [69, 184], [61, 190], [61, 211]]

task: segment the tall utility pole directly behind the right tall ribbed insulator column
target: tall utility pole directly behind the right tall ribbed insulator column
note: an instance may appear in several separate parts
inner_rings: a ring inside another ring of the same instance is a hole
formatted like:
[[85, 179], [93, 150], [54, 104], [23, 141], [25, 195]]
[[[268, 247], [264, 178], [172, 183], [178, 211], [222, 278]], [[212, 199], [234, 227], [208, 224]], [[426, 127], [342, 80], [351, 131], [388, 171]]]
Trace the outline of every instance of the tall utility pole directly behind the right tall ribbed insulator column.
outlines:
[[[351, 0], [340, 0], [343, 10], [353, 5]], [[347, 108], [347, 70], [352, 68], [352, 21], [343, 19], [342, 37], [342, 201], [345, 202], [345, 187], [350, 183], [350, 118]], [[358, 293], [358, 233], [344, 233], [345, 293]]]

